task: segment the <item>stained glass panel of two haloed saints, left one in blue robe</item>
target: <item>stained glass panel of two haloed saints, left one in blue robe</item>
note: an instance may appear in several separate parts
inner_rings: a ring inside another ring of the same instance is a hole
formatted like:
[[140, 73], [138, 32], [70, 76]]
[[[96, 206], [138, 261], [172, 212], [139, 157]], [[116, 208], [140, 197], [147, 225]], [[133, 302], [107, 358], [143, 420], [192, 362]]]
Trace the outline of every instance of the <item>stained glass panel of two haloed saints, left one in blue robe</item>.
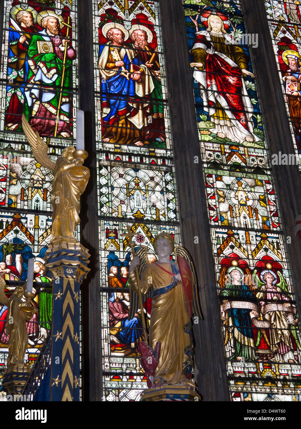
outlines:
[[100, 148], [112, 147], [105, 143], [170, 148], [157, 2], [96, 3], [94, 57]]

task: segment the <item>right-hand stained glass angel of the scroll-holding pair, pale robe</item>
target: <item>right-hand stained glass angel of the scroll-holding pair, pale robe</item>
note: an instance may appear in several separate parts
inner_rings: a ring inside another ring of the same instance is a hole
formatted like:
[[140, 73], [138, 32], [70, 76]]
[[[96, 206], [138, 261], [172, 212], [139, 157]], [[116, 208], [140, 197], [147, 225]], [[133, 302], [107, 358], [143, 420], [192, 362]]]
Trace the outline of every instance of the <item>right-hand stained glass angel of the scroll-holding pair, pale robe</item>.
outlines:
[[[261, 281], [258, 278], [256, 270], [254, 270], [254, 277], [258, 282], [259, 290], [256, 297], [262, 309], [271, 303], [279, 304], [284, 310], [287, 309], [283, 311], [279, 306], [277, 311], [268, 311], [264, 314], [265, 319], [271, 322], [271, 328], [268, 329], [271, 352], [274, 354], [271, 360], [276, 362], [296, 363], [294, 350], [296, 350], [296, 347], [301, 350], [301, 345], [297, 337], [299, 319], [293, 319], [292, 313], [289, 312], [290, 309], [296, 306], [293, 304], [288, 294], [289, 290], [286, 280], [280, 271], [277, 271], [276, 275], [271, 269], [261, 271]], [[260, 332], [258, 332], [257, 345], [260, 340], [261, 335]]]

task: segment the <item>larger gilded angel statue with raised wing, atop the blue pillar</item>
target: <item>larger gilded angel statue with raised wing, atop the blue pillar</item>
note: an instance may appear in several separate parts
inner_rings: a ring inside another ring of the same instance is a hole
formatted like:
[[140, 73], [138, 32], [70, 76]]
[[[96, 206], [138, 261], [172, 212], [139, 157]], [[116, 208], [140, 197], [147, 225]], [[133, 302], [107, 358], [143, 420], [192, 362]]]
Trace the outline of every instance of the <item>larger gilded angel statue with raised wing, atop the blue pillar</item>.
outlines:
[[79, 198], [90, 177], [89, 169], [82, 165], [88, 154], [84, 150], [68, 146], [54, 163], [48, 157], [46, 143], [39, 133], [33, 131], [24, 115], [22, 127], [33, 156], [54, 175], [51, 191], [53, 212], [50, 243], [61, 238], [76, 240], [74, 231], [80, 222]]

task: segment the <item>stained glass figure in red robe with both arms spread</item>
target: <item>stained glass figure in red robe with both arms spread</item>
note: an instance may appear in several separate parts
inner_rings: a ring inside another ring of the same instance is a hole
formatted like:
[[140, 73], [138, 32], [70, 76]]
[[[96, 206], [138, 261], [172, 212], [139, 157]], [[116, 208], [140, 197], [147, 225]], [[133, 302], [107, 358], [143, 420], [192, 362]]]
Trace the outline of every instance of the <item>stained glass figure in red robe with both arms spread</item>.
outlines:
[[226, 33], [225, 25], [230, 22], [224, 21], [222, 14], [208, 13], [201, 15], [207, 31], [196, 33], [190, 64], [200, 84], [204, 111], [209, 113], [215, 125], [211, 130], [218, 137], [252, 146], [260, 139], [253, 133], [254, 110], [243, 76], [255, 76], [248, 70], [249, 59], [243, 48], [233, 45]]

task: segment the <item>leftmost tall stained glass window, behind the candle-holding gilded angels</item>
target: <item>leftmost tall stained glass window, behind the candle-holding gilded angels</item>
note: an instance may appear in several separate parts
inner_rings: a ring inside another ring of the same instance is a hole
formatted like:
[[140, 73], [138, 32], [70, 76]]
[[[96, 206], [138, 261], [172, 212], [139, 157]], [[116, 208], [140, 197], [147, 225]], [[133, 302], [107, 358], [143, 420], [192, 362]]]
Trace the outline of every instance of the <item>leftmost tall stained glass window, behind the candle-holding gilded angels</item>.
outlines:
[[[44, 256], [51, 234], [52, 173], [32, 156], [21, 116], [49, 146], [52, 160], [76, 137], [76, 0], [4, 1], [0, 91], [0, 275], [6, 296], [27, 278], [34, 258], [25, 361], [32, 366], [51, 327], [51, 275]], [[76, 231], [76, 237], [79, 230]], [[20, 283], [21, 282], [21, 283]], [[0, 305], [0, 371], [6, 366], [7, 306]], [[1, 372], [2, 374], [2, 372]]]

